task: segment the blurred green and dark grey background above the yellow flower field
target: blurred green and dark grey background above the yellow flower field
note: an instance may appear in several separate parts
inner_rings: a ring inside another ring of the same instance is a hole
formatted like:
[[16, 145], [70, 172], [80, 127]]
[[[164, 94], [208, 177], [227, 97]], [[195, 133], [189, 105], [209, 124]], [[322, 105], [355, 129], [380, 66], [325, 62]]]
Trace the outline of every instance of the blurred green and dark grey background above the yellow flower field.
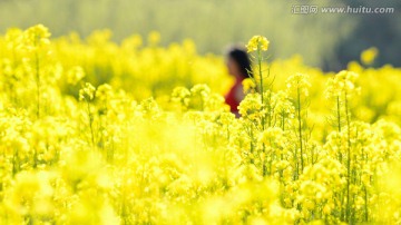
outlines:
[[[294, 6], [392, 7], [388, 14], [292, 13]], [[370, 48], [375, 67], [401, 67], [400, 0], [0, 0], [0, 32], [43, 23], [52, 37], [110, 29], [117, 42], [162, 35], [160, 45], [190, 38], [200, 53], [224, 53], [254, 35], [271, 40], [273, 58], [301, 55], [306, 65], [340, 70]]]

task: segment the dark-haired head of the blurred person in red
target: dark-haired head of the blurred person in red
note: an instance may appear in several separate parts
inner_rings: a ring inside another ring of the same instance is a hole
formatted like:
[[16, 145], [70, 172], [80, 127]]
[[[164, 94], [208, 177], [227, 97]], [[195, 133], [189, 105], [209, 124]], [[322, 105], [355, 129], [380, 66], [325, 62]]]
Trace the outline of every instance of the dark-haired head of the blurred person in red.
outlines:
[[252, 76], [250, 56], [245, 49], [233, 47], [228, 50], [227, 69], [229, 75], [236, 78], [247, 78]]

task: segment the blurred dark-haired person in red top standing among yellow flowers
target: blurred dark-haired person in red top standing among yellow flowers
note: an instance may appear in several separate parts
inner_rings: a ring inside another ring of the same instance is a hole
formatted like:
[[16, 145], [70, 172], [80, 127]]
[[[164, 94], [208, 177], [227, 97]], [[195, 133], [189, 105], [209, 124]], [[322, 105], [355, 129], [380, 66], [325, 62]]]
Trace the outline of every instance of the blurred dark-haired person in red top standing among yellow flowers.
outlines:
[[244, 88], [242, 81], [252, 76], [251, 60], [246, 50], [232, 48], [227, 53], [228, 74], [235, 77], [235, 84], [225, 96], [225, 102], [231, 107], [231, 111], [239, 117], [238, 105], [244, 99]]

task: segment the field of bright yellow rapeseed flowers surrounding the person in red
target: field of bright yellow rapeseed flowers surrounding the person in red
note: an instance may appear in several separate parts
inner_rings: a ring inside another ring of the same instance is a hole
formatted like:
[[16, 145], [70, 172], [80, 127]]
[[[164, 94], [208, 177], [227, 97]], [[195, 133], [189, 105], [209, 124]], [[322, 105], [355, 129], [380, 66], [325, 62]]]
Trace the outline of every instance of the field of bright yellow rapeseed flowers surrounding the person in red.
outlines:
[[401, 223], [401, 69], [374, 48], [323, 72], [250, 37], [236, 118], [225, 59], [160, 39], [0, 37], [0, 224]]

